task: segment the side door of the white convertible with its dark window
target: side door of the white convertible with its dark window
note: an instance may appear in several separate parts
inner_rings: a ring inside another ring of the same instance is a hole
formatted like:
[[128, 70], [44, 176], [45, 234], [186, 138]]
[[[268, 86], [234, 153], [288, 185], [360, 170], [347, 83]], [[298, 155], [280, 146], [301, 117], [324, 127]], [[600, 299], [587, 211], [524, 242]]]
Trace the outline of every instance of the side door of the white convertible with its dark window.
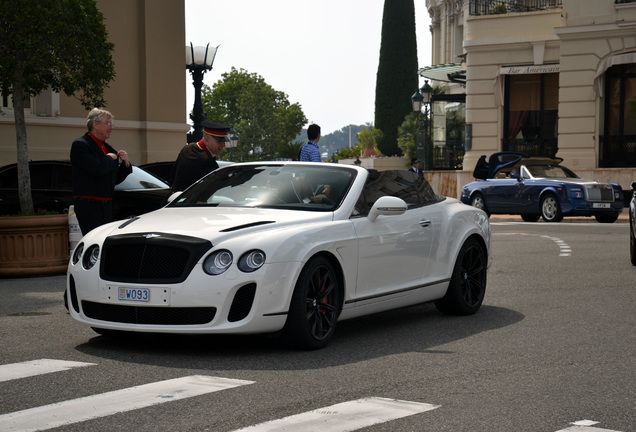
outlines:
[[367, 209], [383, 195], [404, 199], [409, 209], [401, 215], [379, 216], [375, 221], [366, 214], [352, 218], [359, 247], [358, 300], [382, 301], [387, 293], [408, 295], [410, 289], [421, 286], [440, 226], [436, 206], [430, 204], [437, 196], [425, 180], [424, 187], [421, 181], [418, 186], [408, 171], [384, 171], [380, 176], [365, 187]]

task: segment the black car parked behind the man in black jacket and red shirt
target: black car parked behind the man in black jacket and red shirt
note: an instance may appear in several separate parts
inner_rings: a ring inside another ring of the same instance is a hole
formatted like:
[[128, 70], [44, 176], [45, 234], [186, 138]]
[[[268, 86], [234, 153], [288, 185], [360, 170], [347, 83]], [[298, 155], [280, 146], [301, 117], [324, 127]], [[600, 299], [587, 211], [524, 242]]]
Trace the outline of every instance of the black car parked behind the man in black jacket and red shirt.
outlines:
[[[31, 195], [36, 212], [67, 213], [73, 204], [71, 163], [69, 161], [31, 161]], [[126, 219], [148, 213], [166, 204], [170, 188], [161, 179], [133, 166], [132, 173], [115, 186], [113, 217]], [[0, 216], [20, 212], [16, 164], [0, 168]]]

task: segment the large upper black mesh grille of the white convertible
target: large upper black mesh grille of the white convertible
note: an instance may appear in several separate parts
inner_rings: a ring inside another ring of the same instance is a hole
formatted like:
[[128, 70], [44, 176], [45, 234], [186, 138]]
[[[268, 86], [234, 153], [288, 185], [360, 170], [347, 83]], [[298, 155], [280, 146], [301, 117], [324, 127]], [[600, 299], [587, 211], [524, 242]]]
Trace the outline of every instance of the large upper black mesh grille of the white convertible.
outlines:
[[127, 234], [104, 242], [100, 276], [130, 283], [179, 283], [212, 248], [207, 240], [173, 234]]

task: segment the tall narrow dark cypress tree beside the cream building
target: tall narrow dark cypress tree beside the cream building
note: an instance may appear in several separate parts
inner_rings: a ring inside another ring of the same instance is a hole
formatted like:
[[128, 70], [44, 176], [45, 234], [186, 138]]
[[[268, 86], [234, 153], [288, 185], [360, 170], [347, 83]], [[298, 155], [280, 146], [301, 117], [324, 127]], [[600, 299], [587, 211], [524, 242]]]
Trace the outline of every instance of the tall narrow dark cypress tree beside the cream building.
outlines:
[[378, 148], [385, 155], [402, 154], [397, 143], [398, 127], [412, 111], [410, 97], [417, 81], [413, 0], [385, 0], [375, 90], [375, 127], [383, 132]]

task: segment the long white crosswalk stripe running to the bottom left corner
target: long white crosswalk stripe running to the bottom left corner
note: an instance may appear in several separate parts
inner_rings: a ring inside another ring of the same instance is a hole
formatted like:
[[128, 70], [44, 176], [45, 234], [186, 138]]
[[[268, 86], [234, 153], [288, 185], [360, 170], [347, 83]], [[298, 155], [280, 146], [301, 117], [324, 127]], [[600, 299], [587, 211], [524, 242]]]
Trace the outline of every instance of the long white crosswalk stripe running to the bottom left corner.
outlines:
[[205, 375], [159, 381], [0, 415], [0, 430], [51, 429], [253, 383]]

